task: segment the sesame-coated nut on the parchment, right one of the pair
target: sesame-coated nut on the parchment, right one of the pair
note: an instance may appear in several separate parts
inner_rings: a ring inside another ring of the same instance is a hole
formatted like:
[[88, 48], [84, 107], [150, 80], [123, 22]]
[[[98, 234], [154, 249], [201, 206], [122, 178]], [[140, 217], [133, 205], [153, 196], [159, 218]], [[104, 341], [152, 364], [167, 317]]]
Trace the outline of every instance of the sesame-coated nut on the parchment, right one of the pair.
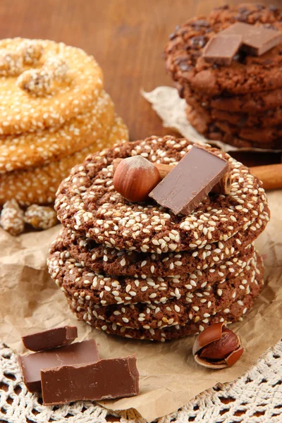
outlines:
[[58, 223], [56, 212], [51, 207], [32, 204], [25, 212], [25, 222], [35, 229], [49, 229]]

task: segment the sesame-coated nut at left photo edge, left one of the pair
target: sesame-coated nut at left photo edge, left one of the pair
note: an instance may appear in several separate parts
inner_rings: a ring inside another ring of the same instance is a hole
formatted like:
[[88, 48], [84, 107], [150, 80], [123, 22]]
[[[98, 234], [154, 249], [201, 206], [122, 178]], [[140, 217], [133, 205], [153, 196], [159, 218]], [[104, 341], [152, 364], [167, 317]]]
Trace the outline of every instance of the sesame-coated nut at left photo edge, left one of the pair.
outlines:
[[25, 229], [23, 210], [16, 200], [7, 201], [1, 212], [0, 226], [11, 235], [20, 235]]

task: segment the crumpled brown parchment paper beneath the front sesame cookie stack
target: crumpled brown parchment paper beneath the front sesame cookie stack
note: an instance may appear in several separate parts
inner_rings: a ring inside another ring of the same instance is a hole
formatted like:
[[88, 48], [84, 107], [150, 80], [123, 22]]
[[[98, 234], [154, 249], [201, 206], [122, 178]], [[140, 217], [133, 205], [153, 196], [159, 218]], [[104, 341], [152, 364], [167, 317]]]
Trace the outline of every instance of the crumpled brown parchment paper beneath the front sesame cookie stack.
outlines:
[[269, 192], [271, 222], [257, 247], [264, 255], [267, 284], [243, 322], [234, 324], [245, 353], [233, 367], [209, 370], [195, 364], [195, 337], [168, 343], [133, 341], [106, 335], [78, 322], [46, 269], [49, 244], [59, 226], [13, 238], [0, 231], [0, 338], [23, 353], [20, 336], [61, 324], [77, 324], [79, 341], [95, 338], [102, 357], [136, 353], [140, 395], [101, 403], [111, 410], [134, 408], [148, 422], [184, 405], [217, 382], [233, 381], [282, 337], [282, 190]]

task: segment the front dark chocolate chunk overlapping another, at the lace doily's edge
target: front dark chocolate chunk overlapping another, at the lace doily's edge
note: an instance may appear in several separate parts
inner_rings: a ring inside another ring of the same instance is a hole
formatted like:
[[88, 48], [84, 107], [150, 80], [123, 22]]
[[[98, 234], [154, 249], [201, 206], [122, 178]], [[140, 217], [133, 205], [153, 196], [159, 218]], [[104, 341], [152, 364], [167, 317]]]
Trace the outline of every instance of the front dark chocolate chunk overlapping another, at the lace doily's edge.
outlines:
[[41, 380], [44, 405], [129, 397], [139, 392], [135, 355], [44, 369]]

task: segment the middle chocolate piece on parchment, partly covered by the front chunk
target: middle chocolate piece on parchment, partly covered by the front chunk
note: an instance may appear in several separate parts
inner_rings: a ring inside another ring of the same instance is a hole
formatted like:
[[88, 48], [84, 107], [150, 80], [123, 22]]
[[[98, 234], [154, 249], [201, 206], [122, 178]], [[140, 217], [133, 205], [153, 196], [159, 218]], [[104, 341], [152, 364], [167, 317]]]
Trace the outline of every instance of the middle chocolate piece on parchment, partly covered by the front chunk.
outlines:
[[94, 339], [42, 351], [41, 353], [19, 355], [18, 357], [23, 381], [30, 392], [39, 392], [41, 390], [40, 371], [42, 369], [49, 369], [50, 367], [64, 364], [97, 362], [98, 360], [99, 353]]

